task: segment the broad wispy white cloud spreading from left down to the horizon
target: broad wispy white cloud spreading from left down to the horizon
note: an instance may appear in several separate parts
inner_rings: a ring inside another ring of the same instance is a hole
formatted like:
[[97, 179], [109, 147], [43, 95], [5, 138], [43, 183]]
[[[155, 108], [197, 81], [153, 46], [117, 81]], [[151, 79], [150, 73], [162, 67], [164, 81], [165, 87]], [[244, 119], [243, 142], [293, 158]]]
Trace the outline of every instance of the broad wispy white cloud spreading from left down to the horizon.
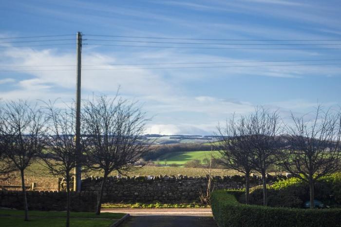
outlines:
[[[122, 66], [108, 64], [133, 62], [235, 62], [230, 65], [250, 65], [250, 59], [221, 57], [208, 54], [189, 54], [176, 50], [135, 52], [135, 55], [115, 52], [114, 55], [96, 52], [96, 49], [83, 49], [82, 95], [83, 98], [95, 94], [114, 95], [121, 85], [120, 93], [129, 99], [138, 99], [143, 109], [155, 117], [150, 125], [150, 132], [161, 134], [212, 134], [218, 121], [235, 114], [246, 114], [254, 110], [254, 103], [224, 95], [211, 95], [213, 91], [194, 88], [190, 83], [214, 83], [216, 78], [229, 76], [271, 76], [271, 77], [303, 77], [320, 75], [339, 75], [337, 67], [320, 66], [276, 66], [266, 63], [262, 67], [212, 68], [190, 70], [152, 70], [132, 66], [133, 70], [117, 70]], [[70, 102], [75, 97], [76, 57], [75, 54], [60, 53], [56, 49], [34, 50], [31, 48], [6, 48], [1, 55], [9, 69], [48, 69], [50, 71], [27, 70], [20, 77], [10, 78], [6, 75], [2, 83], [14, 83], [10, 91], [0, 91], [5, 99], [56, 99]], [[243, 62], [244, 61], [244, 62]], [[277, 63], [276, 63], [277, 64]], [[20, 66], [18, 66], [20, 65]], [[34, 65], [46, 67], [33, 67]], [[59, 65], [52, 67], [51, 65]], [[92, 66], [90, 66], [92, 65]], [[106, 66], [105, 66], [106, 65]], [[127, 67], [127, 66], [125, 66]], [[87, 70], [87, 69], [97, 70]], [[58, 71], [68, 69], [69, 71]], [[113, 69], [113, 70], [105, 70]], [[0, 75], [1, 76], [1, 75]], [[228, 81], [228, 80], [226, 80]], [[228, 83], [227, 83], [228, 84]], [[189, 91], [188, 91], [189, 90]], [[194, 91], [194, 93], [193, 93]], [[240, 91], [241, 93], [243, 91]], [[237, 94], [238, 95], [238, 94]], [[266, 103], [263, 103], [266, 104]], [[303, 111], [311, 108], [311, 103], [304, 100], [267, 103], [273, 108]], [[285, 112], [289, 114], [289, 112]]]

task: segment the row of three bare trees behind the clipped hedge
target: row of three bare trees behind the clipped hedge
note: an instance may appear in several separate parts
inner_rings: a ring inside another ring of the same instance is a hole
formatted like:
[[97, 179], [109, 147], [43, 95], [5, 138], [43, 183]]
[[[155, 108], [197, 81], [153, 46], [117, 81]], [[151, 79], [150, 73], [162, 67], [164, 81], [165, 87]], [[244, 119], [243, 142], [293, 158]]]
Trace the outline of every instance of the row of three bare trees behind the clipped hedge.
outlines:
[[261, 107], [248, 115], [233, 116], [226, 125], [218, 126], [217, 135], [221, 164], [246, 176], [246, 204], [252, 172], [262, 175], [264, 206], [266, 174], [277, 165], [309, 184], [310, 208], [314, 208], [315, 182], [341, 170], [340, 111], [318, 106], [314, 113], [291, 114], [291, 122], [284, 124], [277, 111]]

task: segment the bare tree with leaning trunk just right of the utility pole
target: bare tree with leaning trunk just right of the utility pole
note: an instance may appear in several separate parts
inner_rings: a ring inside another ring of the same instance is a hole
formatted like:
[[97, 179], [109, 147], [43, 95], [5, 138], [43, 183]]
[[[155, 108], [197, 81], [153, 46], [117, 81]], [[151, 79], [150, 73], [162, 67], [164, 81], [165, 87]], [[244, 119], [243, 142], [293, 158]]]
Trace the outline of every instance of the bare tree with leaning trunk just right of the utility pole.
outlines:
[[142, 138], [147, 120], [136, 103], [129, 104], [117, 96], [86, 102], [82, 121], [91, 144], [86, 164], [91, 170], [103, 171], [96, 214], [100, 214], [108, 175], [114, 170], [123, 174], [136, 168], [135, 163], [150, 150], [151, 143]]

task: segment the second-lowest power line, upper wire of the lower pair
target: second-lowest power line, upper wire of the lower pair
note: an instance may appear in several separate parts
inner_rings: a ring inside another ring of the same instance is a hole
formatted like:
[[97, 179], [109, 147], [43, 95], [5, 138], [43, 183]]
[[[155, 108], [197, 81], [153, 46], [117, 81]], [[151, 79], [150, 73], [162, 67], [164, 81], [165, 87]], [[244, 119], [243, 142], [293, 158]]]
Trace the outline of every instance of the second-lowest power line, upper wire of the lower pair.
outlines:
[[[257, 62], [309, 62], [309, 61], [341, 61], [341, 59], [295, 59], [295, 60], [253, 60], [253, 61], [204, 61], [204, 62], [157, 62], [157, 63], [125, 63], [125, 64], [82, 64], [82, 66], [129, 66], [129, 65], [184, 65], [184, 64], [228, 64], [228, 63], [257, 63]], [[11, 67], [64, 67], [71, 65], [10, 65]], [[8, 65], [0, 65], [0, 67], [8, 67]]]

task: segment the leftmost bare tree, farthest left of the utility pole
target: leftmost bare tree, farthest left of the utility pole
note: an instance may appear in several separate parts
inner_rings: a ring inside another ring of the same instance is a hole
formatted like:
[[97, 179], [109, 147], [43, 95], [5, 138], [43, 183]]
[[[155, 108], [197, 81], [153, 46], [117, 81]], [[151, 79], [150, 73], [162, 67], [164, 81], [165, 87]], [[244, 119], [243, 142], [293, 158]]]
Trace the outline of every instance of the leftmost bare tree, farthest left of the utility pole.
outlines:
[[31, 107], [23, 100], [6, 102], [1, 108], [0, 138], [4, 147], [4, 161], [20, 171], [25, 221], [28, 221], [24, 170], [44, 147], [41, 132], [45, 119], [37, 105]]

